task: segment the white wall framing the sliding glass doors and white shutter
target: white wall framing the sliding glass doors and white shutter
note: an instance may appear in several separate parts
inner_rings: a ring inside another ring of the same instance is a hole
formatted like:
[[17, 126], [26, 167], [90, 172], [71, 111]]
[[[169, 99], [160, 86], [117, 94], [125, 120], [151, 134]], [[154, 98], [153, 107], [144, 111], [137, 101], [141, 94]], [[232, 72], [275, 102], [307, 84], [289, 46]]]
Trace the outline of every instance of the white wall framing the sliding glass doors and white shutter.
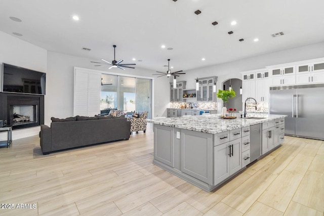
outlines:
[[[73, 116], [73, 76], [74, 67], [93, 69], [100, 72], [110, 72], [142, 77], [153, 77], [155, 71], [136, 67], [121, 70], [119, 68], [95, 67], [93, 59], [48, 52], [47, 93], [45, 96], [45, 124], [50, 125], [51, 117], [66, 118]], [[99, 71], [100, 69], [100, 71]], [[166, 116], [170, 104], [169, 79], [154, 77], [153, 80], [153, 115]]]

